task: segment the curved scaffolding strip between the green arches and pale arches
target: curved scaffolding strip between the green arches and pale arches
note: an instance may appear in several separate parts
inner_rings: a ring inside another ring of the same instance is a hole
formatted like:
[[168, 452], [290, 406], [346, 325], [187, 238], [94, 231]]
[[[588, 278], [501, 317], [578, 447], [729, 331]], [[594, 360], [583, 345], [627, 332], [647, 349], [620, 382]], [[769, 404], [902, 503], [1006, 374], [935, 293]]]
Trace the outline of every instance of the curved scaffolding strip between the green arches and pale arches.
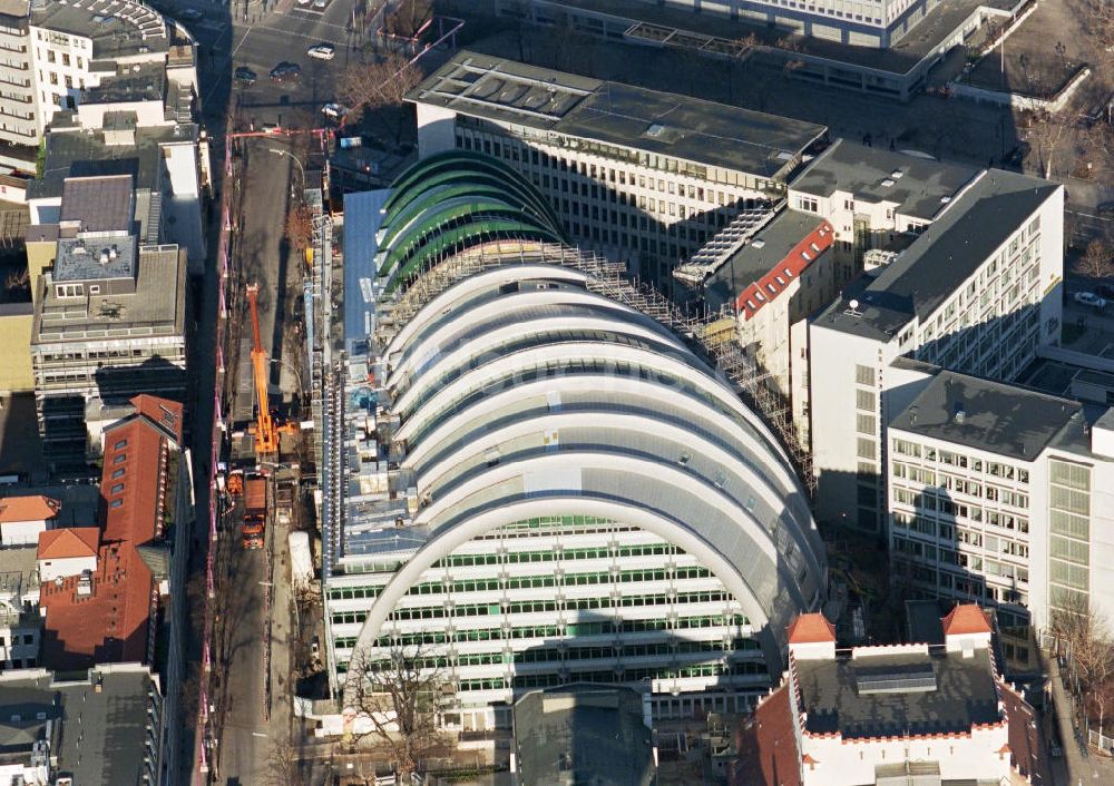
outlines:
[[[685, 314], [653, 287], [628, 278], [623, 264], [609, 262], [594, 252], [551, 243], [492, 240], [448, 255], [413, 278], [393, 303], [384, 304], [375, 338], [381, 346], [387, 346], [414, 314], [458, 282], [492, 267], [530, 264], [579, 271], [586, 276], [589, 292], [635, 308], [685, 340], [710, 365], [722, 372], [736, 394], [776, 434], [809, 497], [813, 495], [817, 483], [812, 456], [793, 424], [789, 400], [774, 390], [770, 384], [772, 376], [746, 355], [733, 334], [730, 340], [722, 338], [723, 331], [714, 326], [724, 321], [724, 315]], [[733, 316], [727, 318], [734, 322]]]

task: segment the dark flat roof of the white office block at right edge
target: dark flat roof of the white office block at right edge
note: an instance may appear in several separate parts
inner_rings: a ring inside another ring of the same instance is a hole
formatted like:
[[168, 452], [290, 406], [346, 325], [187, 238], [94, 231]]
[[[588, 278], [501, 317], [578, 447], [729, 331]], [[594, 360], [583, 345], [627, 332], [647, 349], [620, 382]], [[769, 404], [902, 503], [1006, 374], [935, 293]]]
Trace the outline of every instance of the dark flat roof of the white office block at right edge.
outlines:
[[1052, 444], [1085, 449], [1076, 439], [1083, 425], [1078, 402], [951, 371], [937, 374], [890, 422], [891, 429], [1024, 461]]

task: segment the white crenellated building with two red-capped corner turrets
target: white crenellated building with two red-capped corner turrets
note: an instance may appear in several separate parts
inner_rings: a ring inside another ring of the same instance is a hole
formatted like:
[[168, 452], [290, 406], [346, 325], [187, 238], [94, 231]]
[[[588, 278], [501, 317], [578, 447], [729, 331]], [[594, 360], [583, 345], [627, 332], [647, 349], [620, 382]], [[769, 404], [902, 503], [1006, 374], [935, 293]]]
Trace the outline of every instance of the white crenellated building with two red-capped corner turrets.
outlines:
[[999, 675], [986, 612], [959, 605], [938, 628], [935, 640], [838, 649], [823, 615], [799, 617], [735, 783], [1049, 783], [1036, 713]]

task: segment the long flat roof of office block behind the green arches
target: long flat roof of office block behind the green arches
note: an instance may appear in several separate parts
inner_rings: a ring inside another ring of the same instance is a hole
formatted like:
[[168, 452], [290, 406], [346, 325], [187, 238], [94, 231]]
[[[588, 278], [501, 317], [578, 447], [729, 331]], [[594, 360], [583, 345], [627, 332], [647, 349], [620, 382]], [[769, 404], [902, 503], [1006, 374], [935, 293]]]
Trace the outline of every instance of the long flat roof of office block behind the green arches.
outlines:
[[460, 51], [409, 100], [461, 115], [783, 177], [825, 128], [632, 85]]

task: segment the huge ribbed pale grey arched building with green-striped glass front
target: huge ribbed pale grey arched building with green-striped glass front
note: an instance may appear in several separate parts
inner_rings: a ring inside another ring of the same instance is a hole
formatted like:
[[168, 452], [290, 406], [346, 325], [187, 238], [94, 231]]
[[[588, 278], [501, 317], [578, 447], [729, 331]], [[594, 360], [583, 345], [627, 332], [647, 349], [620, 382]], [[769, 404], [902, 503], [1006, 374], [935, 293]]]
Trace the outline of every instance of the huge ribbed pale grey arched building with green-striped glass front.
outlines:
[[825, 582], [788, 456], [587, 255], [501, 237], [468, 254], [427, 268], [460, 269], [419, 304], [384, 296], [378, 387], [346, 399], [391, 469], [336, 539], [338, 684], [354, 651], [401, 647], [452, 682], [465, 728], [585, 680], [648, 688], [659, 715], [739, 709]]

